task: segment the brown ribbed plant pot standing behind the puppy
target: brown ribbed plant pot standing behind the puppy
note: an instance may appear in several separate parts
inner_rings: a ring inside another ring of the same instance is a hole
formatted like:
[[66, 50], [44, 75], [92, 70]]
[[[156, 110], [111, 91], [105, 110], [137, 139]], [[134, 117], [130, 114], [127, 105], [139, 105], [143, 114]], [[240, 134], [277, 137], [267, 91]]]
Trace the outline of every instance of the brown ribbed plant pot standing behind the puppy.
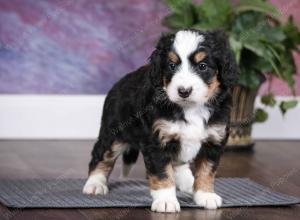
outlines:
[[240, 85], [233, 89], [227, 149], [252, 149], [254, 146], [251, 132], [257, 92], [258, 89], [251, 90]]

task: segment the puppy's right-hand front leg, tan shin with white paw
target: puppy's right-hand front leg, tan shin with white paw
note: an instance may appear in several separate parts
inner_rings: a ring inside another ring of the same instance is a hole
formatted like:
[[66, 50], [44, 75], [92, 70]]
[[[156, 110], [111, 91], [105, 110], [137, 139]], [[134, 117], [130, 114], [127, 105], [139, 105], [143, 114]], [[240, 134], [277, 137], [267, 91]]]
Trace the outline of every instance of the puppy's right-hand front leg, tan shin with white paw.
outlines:
[[214, 192], [216, 168], [221, 152], [217, 149], [218, 146], [215, 149], [213, 146], [209, 147], [211, 149], [208, 152], [213, 157], [205, 152], [204, 156], [199, 155], [195, 160], [194, 201], [204, 208], [216, 209], [222, 205], [222, 198]]

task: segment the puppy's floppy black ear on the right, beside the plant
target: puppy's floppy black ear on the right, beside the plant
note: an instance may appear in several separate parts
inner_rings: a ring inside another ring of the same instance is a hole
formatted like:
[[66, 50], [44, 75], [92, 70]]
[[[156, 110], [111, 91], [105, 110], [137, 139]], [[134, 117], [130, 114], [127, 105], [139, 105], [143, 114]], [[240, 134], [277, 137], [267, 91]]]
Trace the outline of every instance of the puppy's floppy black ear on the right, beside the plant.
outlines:
[[233, 87], [239, 79], [239, 68], [224, 31], [212, 32], [214, 39], [214, 54], [217, 58], [221, 83], [226, 87]]

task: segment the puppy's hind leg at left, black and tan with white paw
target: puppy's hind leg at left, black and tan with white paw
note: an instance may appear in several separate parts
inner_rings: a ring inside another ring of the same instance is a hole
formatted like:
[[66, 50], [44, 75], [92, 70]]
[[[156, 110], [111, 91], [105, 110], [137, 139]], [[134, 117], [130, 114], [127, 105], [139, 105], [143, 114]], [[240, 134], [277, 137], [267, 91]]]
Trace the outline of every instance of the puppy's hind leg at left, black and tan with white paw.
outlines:
[[108, 177], [116, 159], [126, 147], [126, 144], [118, 141], [113, 141], [108, 145], [105, 145], [101, 140], [96, 142], [89, 164], [89, 178], [83, 187], [83, 193], [105, 195], [108, 192]]

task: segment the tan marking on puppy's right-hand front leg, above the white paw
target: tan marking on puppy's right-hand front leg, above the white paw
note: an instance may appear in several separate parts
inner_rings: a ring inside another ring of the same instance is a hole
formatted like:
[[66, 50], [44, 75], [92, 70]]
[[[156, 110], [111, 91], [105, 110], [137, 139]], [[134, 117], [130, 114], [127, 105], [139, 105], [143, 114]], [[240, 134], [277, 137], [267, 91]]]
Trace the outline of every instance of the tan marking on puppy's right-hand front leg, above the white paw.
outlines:
[[195, 161], [194, 191], [214, 192], [216, 172], [212, 171], [213, 164], [207, 160]]

